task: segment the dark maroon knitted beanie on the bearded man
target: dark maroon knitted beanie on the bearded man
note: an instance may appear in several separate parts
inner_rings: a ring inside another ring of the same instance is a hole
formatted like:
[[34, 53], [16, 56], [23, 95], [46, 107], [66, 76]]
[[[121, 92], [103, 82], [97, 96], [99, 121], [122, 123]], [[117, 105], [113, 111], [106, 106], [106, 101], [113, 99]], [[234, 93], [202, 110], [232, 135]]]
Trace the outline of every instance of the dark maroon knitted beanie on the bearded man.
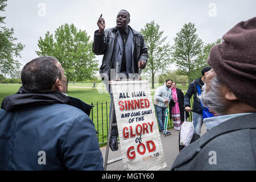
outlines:
[[229, 30], [210, 49], [208, 64], [234, 95], [256, 108], [256, 17]]

